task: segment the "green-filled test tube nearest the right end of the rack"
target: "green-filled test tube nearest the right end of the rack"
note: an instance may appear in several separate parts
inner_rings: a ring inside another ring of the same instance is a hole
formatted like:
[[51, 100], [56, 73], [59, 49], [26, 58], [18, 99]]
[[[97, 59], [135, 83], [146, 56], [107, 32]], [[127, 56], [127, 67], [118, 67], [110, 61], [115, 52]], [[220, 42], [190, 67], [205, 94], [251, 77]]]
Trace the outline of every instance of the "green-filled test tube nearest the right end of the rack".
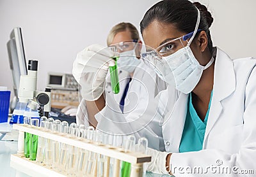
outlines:
[[[135, 147], [135, 136], [130, 135], [127, 137], [126, 142], [124, 143], [125, 152], [134, 151], [134, 147]], [[129, 177], [130, 174], [131, 174], [131, 163], [123, 161], [122, 167], [121, 167], [121, 176]]]

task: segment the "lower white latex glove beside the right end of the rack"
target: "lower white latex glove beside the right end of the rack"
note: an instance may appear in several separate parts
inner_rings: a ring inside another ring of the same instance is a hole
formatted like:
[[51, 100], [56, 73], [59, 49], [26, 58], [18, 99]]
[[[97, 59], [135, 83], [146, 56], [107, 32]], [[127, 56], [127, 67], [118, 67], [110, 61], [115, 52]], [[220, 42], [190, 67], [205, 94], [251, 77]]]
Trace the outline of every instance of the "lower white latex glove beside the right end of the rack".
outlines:
[[166, 156], [170, 152], [159, 152], [152, 148], [147, 148], [147, 154], [151, 155], [151, 162], [147, 163], [147, 171], [159, 174], [168, 174], [166, 170]]

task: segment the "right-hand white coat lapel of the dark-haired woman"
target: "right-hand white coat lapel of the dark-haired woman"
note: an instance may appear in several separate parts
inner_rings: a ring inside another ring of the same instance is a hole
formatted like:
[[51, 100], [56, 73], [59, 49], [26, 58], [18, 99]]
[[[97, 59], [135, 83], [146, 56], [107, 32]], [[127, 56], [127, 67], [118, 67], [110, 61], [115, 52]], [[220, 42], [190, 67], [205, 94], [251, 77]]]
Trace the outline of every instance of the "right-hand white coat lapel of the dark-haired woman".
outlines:
[[228, 55], [217, 48], [216, 60], [214, 66], [214, 85], [212, 93], [211, 108], [209, 118], [205, 130], [204, 145], [205, 148], [209, 132], [220, 117], [223, 107], [221, 101], [230, 96], [236, 89], [236, 77], [234, 72], [233, 62]]

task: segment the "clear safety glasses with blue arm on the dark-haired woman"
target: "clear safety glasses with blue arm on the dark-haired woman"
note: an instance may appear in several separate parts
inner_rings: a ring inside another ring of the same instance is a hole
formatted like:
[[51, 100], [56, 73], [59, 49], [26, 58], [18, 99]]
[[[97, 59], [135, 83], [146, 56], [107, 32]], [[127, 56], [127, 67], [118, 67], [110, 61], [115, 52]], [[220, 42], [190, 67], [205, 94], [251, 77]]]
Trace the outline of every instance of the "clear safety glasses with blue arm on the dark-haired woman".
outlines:
[[[197, 32], [198, 31], [202, 30], [198, 29]], [[148, 52], [141, 53], [141, 59], [148, 67], [154, 69], [157, 64], [162, 65], [164, 63], [162, 57], [167, 57], [168, 55], [172, 55], [173, 53], [177, 52], [177, 50], [181, 48], [180, 45], [184, 47], [182, 41], [187, 41], [188, 43], [188, 39], [193, 36], [193, 33], [194, 32], [189, 32], [184, 36], [167, 41], [166, 43], [158, 46], [156, 49], [147, 47]]]

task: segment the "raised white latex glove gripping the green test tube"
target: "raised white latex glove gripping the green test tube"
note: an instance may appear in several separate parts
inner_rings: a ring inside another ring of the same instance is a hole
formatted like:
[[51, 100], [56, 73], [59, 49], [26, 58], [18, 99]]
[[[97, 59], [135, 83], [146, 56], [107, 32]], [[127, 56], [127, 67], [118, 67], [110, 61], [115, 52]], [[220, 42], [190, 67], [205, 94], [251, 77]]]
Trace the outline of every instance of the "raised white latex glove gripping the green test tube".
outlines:
[[72, 74], [87, 101], [95, 101], [102, 95], [108, 68], [115, 65], [115, 60], [111, 59], [113, 56], [109, 48], [100, 45], [88, 46], [77, 54]]

